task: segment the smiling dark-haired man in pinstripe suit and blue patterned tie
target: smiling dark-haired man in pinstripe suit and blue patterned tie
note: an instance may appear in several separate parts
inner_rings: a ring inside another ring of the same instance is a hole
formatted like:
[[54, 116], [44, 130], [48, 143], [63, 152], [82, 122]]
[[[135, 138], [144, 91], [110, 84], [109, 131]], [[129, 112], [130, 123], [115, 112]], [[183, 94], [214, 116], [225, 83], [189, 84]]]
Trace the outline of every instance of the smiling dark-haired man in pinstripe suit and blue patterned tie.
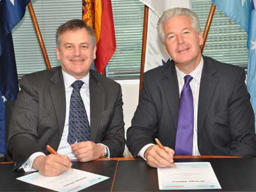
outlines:
[[[90, 70], [97, 49], [93, 29], [70, 20], [57, 29], [56, 44], [61, 67], [20, 80], [8, 136], [16, 167], [47, 176], [68, 170], [69, 159], [120, 157], [125, 146], [120, 84]], [[61, 157], [49, 154], [47, 145]]]

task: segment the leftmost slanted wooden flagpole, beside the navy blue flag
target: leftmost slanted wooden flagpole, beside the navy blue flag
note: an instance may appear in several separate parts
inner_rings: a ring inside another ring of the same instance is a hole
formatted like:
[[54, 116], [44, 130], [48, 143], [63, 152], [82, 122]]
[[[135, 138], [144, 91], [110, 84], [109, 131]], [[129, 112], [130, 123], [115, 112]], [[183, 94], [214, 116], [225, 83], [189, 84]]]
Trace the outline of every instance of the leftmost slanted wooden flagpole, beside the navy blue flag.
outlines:
[[34, 26], [35, 31], [36, 31], [36, 36], [37, 36], [39, 45], [41, 47], [42, 54], [44, 56], [45, 66], [46, 66], [47, 69], [49, 69], [49, 68], [51, 68], [51, 63], [49, 61], [47, 51], [45, 49], [44, 40], [43, 40], [41, 31], [40, 31], [40, 28], [38, 26], [38, 22], [37, 22], [36, 15], [35, 15], [35, 12], [34, 12], [31, 1], [29, 1], [29, 3], [28, 3], [28, 10], [29, 10], [32, 22], [33, 22], [33, 26]]

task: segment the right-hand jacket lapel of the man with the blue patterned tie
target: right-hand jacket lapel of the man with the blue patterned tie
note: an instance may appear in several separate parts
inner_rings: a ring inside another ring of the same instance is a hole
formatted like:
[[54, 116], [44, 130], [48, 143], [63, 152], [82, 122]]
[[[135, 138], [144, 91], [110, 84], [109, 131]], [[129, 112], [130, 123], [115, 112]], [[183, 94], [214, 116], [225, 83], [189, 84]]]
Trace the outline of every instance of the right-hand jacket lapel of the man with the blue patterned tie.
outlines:
[[97, 77], [90, 71], [90, 128], [92, 141], [96, 140], [97, 131], [99, 127], [99, 119], [102, 111], [104, 111], [105, 95], [100, 86]]

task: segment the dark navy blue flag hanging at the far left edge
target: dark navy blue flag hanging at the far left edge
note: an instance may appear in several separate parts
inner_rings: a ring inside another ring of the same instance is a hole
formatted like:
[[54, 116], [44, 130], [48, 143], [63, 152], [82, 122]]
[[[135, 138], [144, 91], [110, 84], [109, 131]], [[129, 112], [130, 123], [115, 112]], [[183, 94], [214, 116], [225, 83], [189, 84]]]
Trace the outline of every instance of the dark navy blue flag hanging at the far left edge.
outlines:
[[4, 100], [19, 92], [12, 29], [20, 22], [29, 0], [0, 1], [0, 154], [6, 153]]

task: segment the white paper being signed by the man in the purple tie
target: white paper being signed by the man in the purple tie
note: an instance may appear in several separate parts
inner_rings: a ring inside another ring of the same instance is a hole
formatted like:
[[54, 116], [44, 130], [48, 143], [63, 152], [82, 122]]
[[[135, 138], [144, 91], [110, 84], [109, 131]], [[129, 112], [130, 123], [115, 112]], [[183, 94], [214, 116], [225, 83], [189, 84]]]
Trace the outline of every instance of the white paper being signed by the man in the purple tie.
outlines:
[[209, 162], [175, 163], [157, 168], [159, 189], [221, 189]]

